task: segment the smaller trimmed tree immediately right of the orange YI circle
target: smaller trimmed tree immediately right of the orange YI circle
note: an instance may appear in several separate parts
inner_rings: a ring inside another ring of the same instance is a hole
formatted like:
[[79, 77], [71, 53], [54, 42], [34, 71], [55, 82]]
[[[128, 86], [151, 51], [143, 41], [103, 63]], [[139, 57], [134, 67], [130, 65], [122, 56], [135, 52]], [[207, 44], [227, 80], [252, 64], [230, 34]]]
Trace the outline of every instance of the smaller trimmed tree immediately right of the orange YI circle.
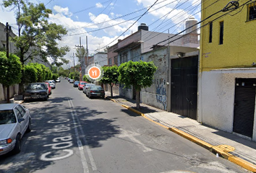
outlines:
[[101, 82], [103, 84], [109, 84], [111, 88], [111, 97], [113, 97], [113, 86], [119, 82], [118, 66], [103, 66], [103, 78]]

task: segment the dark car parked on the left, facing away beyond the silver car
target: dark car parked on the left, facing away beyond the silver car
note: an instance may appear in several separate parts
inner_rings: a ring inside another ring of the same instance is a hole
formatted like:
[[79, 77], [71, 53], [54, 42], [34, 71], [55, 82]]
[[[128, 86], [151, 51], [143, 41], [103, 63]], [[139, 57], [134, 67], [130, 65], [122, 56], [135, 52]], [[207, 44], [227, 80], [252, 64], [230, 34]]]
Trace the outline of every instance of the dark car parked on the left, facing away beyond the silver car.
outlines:
[[25, 90], [24, 99], [44, 99], [48, 100], [49, 90], [46, 83], [37, 82], [27, 86]]

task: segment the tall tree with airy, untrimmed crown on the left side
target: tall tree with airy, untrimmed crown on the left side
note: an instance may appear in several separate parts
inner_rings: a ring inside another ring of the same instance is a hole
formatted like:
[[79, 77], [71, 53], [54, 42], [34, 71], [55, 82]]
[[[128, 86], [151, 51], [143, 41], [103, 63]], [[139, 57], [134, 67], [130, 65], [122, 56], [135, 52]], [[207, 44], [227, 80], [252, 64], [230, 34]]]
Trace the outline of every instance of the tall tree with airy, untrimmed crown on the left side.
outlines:
[[[25, 61], [40, 56], [44, 61], [50, 57], [56, 66], [68, 63], [63, 57], [69, 51], [69, 47], [59, 48], [58, 41], [67, 30], [61, 25], [49, 23], [51, 9], [46, 9], [43, 3], [33, 4], [23, 0], [4, 0], [4, 7], [12, 7], [18, 25], [18, 36], [11, 41], [17, 48], [17, 56], [24, 66]], [[22, 71], [23, 74], [24, 71]], [[22, 93], [25, 76], [22, 75], [20, 94]]]

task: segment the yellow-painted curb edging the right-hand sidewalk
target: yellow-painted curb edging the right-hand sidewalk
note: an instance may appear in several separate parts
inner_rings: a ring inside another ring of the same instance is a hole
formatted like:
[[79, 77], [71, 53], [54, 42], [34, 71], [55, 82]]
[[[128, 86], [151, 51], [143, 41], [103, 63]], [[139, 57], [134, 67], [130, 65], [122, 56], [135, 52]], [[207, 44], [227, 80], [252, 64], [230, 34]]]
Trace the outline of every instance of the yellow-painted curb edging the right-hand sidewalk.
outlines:
[[[108, 98], [108, 97], [106, 97], [106, 98]], [[111, 99], [111, 101], [116, 102], [115, 99]], [[188, 133], [185, 133], [184, 131], [179, 130], [177, 128], [168, 128], [166, 125], [162, 125], [161, 123], [158, 123], [155, 120], [151, 120], [150, 118], [146, 117], [142, 112], [132, 109], [131, 107], [129, 107], [127, 105], [121, 105], [121, 106], [127, 108], [128, 110], [131, 110], [132, 112], [137, 113], [138, 115], [141, 115], [142, 117], [145, 117], [145, 119], [150, 120], [151, 122], [153, 122], [157, 125], [161, 125], [161, 127], [166, 128], [166, 129], [178, 134], [179, 136], [182, 136], [183, 138], [187, 138], [189, 141], [192, 141], [193, 143], [197, 143], [197, 145], [208, 149], [208, 151], [211, 151], [213, 154], [218, 154], [219, 156], [222, 156], [224, 159], [227, 159], [227, 160], [233, 162], [234, 164], [237, 164], [240, 167], [243, 167], [244, 169], [247, 169], [251, 172], [256, 172], [255, 164], [252, 164], [249, 161], [245, 161], [244, 159], [241, 159], [237, 156], [229, 154], [229, 151], [223, 150], [220, 146], [213, 146], [210, 143], [202, 141], [199, 138], [189, 135]]]

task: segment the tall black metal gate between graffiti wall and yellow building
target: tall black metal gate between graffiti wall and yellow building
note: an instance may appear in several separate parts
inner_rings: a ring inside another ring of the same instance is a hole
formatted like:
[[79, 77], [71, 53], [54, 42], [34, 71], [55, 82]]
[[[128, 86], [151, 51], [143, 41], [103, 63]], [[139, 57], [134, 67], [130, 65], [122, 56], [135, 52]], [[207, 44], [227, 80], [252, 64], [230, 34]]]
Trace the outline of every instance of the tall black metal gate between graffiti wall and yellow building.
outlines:
[[198, 56], [171, 60], [171, 112], [197, 119]]

